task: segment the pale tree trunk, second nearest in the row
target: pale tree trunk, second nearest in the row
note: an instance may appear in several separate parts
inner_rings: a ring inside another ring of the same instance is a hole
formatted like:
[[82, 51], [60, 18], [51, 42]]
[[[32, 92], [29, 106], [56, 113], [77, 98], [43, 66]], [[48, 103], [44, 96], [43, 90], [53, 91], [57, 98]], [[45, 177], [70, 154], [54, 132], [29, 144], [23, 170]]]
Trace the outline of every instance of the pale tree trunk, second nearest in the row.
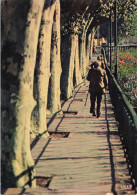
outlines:
[[[39, 54], [38, 63], [36, 67], [38, 83], [35, 93], [37, 93], [37, 106], [33, 113], [32, 126], [33, 130], [37, 130], [36, 133], [42, 137], [47, 138], [49, 136], [47, 132], [47, 100], [48, 100], [48, 88], [50, 78], [50, 53], [51, 53], [51, 39], [52, 39], [52, 25], [55, 12], [56, 3], [52, 4], [49, 0], [45, 4], [43, 11], [41, 31], [39, 38]], [[37, 114], [38, 113], [38, 114]], [[38, 116], [37, 116], [38, 115]]]

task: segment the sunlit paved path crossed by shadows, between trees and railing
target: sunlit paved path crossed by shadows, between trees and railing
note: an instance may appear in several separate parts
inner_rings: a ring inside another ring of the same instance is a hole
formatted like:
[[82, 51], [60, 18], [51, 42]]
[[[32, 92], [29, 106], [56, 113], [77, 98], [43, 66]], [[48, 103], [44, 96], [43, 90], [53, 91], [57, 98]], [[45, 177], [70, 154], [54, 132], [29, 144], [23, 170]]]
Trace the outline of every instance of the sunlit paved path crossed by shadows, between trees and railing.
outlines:
[[108, 91], [100, 118], [89, 113], [88, 82], [62, 105], [63, 115], [48, 116], [51, 138], [31, 145], [38, 184], [46, 187], [5, 194], [135, 194]]

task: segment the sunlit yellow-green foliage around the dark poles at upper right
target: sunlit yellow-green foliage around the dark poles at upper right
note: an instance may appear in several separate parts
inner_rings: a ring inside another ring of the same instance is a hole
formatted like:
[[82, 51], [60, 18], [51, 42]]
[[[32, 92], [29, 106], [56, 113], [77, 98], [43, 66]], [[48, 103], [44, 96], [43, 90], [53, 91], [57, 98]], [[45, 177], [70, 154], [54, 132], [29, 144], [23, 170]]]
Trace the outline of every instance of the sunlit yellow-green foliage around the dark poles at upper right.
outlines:
[[[101, 3], [100, 7], [95, 10], [91, 28], [108, 22], [110, 10], [112, 10], [112, 22], [114, 23], [115, 2], [107, 0]], [[135, 0], [117, 0], [118, 39], [137, 33], [136, 13]]]

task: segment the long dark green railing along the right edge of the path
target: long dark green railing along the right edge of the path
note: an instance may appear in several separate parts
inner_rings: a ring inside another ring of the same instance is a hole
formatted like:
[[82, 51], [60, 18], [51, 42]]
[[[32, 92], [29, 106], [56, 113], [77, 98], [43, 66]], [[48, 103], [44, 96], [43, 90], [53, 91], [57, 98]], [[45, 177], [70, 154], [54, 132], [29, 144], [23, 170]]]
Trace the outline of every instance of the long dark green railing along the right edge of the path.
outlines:
[[116, 119], [119, 122], [122, 143], [124, 145], [133, 183], [137, 190], [137, 114], [108, 67], [107, 74], [109, 78], [110, 96]]

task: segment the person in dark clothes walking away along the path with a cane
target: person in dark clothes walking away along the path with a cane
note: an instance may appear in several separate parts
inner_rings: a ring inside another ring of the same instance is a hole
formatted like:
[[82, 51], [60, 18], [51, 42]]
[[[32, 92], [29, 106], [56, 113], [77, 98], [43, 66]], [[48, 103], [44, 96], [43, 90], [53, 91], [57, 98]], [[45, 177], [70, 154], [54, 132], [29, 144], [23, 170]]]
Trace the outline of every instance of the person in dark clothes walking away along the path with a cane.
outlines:
[[[90, 92], [90, 113], [93, 116], [100, 117], [101, 114], [101, 100], [102, 95], [105, 93], [105, 89], [108, 85], [108, 78], [106, 71], [101, 68], [97, 62], [91, 64], [91, 69], [88, 72], [87, 80], [90, 81], [89, 92]], [[95, 102], [97, 101], [97, 108], [95, 112]]]

